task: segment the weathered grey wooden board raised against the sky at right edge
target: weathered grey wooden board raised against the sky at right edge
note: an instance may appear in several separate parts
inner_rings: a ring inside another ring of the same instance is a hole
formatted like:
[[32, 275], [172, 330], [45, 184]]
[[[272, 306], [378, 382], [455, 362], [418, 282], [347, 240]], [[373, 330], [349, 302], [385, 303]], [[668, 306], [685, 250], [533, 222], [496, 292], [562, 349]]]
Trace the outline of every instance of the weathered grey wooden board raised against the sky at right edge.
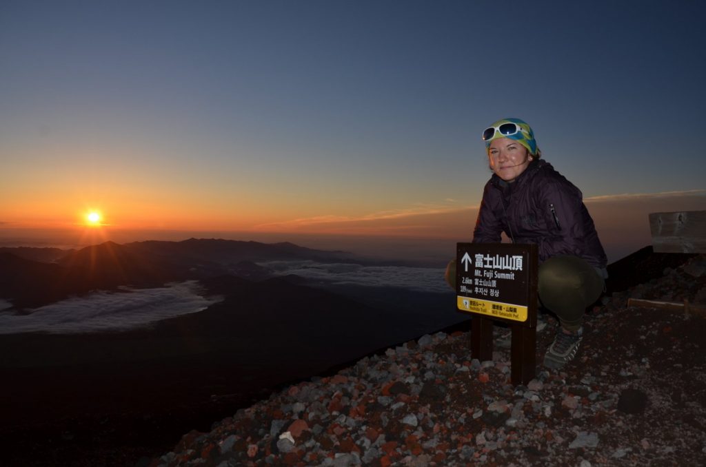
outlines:
[[655, 253], [706, 253], [706, 211], [650, 214]]

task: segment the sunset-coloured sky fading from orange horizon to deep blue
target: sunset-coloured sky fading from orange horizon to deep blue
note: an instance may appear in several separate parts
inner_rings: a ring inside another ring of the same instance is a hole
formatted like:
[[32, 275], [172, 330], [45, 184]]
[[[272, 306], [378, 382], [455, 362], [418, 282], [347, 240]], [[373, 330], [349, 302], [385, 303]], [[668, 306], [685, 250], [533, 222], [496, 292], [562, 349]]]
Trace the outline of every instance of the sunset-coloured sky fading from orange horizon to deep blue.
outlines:
[[121, 229], [467, 231], [480, 134], [505, 116], [586, 198], [706, 209], [705, 17], [701, 1], [2, 0], [0, 227], [97, 209]]

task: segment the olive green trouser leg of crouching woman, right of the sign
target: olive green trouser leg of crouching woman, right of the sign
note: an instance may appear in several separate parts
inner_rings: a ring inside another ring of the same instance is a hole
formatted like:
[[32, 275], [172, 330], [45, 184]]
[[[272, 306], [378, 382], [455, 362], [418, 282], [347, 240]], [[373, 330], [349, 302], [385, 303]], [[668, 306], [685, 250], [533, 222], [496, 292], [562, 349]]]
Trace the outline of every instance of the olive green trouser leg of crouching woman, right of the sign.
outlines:
[[568, 331], [581, 327], [584, 311], [604, 288], [605, 279], [580, 257], [554, 256], [539, 265], [539, 301]]

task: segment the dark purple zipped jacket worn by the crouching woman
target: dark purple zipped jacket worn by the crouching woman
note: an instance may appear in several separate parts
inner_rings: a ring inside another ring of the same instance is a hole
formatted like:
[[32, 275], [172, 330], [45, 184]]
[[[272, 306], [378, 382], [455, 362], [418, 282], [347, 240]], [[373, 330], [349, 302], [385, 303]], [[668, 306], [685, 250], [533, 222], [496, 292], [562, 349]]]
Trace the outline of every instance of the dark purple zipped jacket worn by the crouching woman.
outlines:
[[486, 183], [473, 243], [498, 243], [503, 231], [515, 243], [537, 243], [540, 262], [574, 255], [598, 269], [606, 267], [581, 191], [542, 159], [531, 162], [513, 183], [495, 174]]

